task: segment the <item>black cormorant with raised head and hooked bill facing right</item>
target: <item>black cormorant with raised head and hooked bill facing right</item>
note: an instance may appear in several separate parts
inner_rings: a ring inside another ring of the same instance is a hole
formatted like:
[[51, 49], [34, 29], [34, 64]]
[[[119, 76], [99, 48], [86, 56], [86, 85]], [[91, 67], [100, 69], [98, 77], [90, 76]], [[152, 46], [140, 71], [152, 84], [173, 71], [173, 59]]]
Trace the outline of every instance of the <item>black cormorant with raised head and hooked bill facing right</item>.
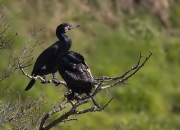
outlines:
[[[46, 81], [42, 83], [47, 83], [48, 80], [46, 79], [46, 75], [52, 73], [53, 82], [58, 84], [58, 80], [56, 78], [57, 59], [61, 57], [62, 54], [68, 52], [72, 44], [71, 39], [65, 35], [65, 33], [76, 27], [80, 27], [80, 25], [73, 26], [68, 23], [63, 23], [56, 28], [56, 36], [59, 41], [51, 45], [39, 55], [32, 70], [32, 76], [43, 76]], [[32, 79], [27, 85], [25, 91], [29, 90], [35, 82], [36, 80]]]

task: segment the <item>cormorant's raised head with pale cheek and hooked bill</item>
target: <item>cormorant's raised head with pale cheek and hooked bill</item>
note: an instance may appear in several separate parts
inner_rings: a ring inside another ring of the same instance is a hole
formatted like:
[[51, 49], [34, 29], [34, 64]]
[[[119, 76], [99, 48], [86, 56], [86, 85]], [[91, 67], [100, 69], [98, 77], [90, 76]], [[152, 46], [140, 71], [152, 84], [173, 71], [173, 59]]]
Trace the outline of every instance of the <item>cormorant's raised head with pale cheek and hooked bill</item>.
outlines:
[[56, 28], [56, 35], [58, 36], [59, 34], [65, 34], [67, 31], [80, 27], [80, 25], [71, 25], [68, 23], [62, 23]]

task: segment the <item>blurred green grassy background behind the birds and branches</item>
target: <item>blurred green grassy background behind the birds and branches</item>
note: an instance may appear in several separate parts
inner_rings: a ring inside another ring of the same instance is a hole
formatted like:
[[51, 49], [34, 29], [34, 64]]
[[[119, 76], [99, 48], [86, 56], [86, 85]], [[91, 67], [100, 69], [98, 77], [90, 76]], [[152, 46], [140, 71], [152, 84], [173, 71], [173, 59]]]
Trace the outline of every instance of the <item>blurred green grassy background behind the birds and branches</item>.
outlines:
[[[101, 113], [75, 115], [61, 129], [111, 130], [120, 125], [122, 130], [178, 130], [180, 129], [180, 5], [170, 8], [170, 27], [165, 27], [157, 17], [146, 10], [134, 14], [115, 11], [108, 1], [72, 0], [1, 0], [6, 5], [5, 22], [12, 22], [7, 36], [16, 31], [20, 36], [14, 41], [19, 54], [27, 42], [29, 26], [44, 27], [37, 39], [45, 43], [36, 47], [37, 57], [45, 48], [57, 41], [55, 29], [60, 23], [80, 24], [81, 28], [67, 33], [73, 41], [71, 50], [81, 53], [89, 64], [94, 77], [119, 76], [134, 66], [141, 51], [144, 56], [156, 48], [147, 64], [129, 80], [129, 84], [117, 85], [109, 95], [101, 92], [97, 101], [102, 106], [114, 97], [112, 103]], [[33, 44], [33, 41], [32, 41]], [[1, 57], [0, 72], [3, 72], [8, 55]], [[26, 69], [30, 74], [33, 66]], [[51, 75], [49, 76], [51, 78]], [[58, 77], [60, 79], [60, 76]], [[45, 93], [47, 101], [58, 103], [65, 89], [39, 81], [24, 92], [29, 79], [20, 71], [0, 82], [0, 87], [19, 91], [22, 102]], [[0, 98], [17, 98], [3, 94]], [[89, 104], [91, 105], [91, 104]], [[46, 107], [44, 111], [49, 111]], [[55, 128], [54, 128], [55, 129]], [[57, 128], [59, 129], [59, 128]]]

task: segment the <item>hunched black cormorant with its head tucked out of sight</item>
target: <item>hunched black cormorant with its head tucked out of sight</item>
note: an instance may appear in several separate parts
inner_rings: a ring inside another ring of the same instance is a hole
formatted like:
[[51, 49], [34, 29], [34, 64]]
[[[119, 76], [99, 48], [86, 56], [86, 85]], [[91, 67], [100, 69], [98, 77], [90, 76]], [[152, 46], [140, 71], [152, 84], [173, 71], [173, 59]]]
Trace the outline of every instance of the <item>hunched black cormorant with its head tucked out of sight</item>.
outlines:
[[[91, 96], [92, 88], [96, 88], [97, 81], [93, 79], [84, 57], [79, 53], [69, 51], [58, 59], [58, 63], [59, 74], [65, 80], [68, 89], [71, 90], [67, 98], [78, 100], [83, 93]], [[91, 98], [94, 104], [100, 107], [94, 97]]]

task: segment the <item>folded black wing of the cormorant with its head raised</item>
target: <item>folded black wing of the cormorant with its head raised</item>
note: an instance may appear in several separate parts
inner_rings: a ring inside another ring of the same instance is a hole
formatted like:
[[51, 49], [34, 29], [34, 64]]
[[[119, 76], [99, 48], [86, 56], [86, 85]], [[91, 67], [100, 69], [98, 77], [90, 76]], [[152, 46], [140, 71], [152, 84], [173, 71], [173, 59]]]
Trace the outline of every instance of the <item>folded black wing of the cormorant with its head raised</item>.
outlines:
[[32, 71], [32, 75], [34, 73], [36, 73], [36, 71], [40, 68], [42, 68], [44, 65], [47, 64], [47, 62], [49, 60], [51, 60], [51, 58], [53, 58], [53, 56], [56, 55], [56, 53], [58, 52], [59, 46], [58, 46], [58, 42], [57, 41], [55, 44], [53, 44], [52, 46], [50, 46], [49, 48], [47, 48], [46, 50], [44, 50], [39, 57], [36, 59], [36, 62], [34, 64], [34, 68]]

